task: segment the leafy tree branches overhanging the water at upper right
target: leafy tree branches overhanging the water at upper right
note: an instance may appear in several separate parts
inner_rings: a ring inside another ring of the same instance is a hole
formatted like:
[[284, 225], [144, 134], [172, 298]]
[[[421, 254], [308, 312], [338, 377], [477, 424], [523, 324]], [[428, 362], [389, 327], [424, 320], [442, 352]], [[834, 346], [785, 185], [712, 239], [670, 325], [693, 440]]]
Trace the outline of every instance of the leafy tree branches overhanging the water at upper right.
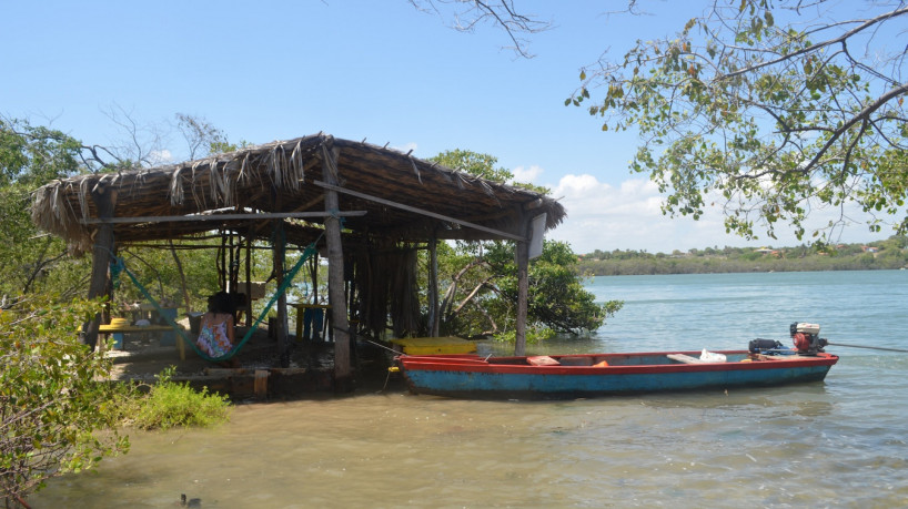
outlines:
[[[895, 216], [905, 233], [908, 49], [892, 41], [908, 7], [861, 7], [716, 0], [675, 38], [584, 68], [565, 103], [592, 102], [604, 131], [640, 133], [632, 167], [667, 193], [667, 214], [697, 218], [716, 203], [746, 238], [758, 227], [775, 238], [781, 222], [823, 240], [850, 223], [854, 202], [876, 214], [871, 231]], [[817, 207], [838, 214], [807, 232]]]

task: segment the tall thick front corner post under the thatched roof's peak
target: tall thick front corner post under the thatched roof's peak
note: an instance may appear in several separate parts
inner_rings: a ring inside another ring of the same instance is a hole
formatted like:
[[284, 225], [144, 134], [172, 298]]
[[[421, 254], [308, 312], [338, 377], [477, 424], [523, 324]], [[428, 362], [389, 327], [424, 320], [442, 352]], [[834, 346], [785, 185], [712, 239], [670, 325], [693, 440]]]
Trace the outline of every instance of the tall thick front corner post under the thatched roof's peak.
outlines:
[[[336, 155], [322, 145], [322, 175], [331, 185], [337, 185], [334, 169]], [[344, 251], [341, 241], [340, 201], [337, 192], [325, 190], [325, 241], [327, 243], [327, 303], [331, 305], [331, 326], [334, 327], [334, 389], [353, 389], [350, 358], [350, 323], [344, 301]]]

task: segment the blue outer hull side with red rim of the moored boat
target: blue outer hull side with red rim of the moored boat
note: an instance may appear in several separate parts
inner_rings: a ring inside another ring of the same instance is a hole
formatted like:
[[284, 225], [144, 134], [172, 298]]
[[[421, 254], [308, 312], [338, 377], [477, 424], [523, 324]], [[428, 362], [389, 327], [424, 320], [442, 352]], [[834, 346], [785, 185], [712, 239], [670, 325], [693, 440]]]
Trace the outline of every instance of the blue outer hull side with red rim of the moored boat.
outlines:
[[599, 368], [494, 365], [466, 358], [453, 363], [402, 359], [401, 364], [411, 390], [416, 394], [483, 399], [565, 399], [820, 381], [837, 359], [825, 356], [765, 363], [666, 362], [618, 366], [609, 363], [608, 367]]

